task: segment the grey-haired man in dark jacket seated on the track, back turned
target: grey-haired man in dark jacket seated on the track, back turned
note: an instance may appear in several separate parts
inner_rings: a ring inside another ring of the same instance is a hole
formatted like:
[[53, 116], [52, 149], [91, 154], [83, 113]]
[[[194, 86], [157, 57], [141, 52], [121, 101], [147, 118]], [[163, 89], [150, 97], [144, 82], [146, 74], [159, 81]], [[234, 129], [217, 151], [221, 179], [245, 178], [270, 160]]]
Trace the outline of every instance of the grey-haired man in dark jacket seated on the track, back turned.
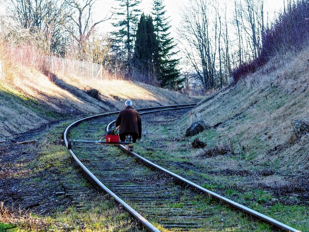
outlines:
[[120, 111], [117, 119], [116, 126], [119, 128], [119, 139], [121, 142], [125, 141], [125, 136], [131, 135], [132, 142], [142, 138], [142, 119], [140, 114], [132, 108], [132, 101], [127, 100], [124, 103], [125, 109]]

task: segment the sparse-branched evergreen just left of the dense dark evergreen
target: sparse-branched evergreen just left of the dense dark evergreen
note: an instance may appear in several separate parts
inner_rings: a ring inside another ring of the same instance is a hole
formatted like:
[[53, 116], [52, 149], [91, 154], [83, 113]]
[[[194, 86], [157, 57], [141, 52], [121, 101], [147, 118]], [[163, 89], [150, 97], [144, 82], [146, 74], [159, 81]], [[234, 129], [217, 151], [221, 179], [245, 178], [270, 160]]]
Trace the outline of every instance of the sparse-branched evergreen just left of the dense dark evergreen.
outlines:
[[113, 26], [118, 28], [113, 32], [114, 48], [124, 49], [127, 53], [127, 59], [130, 59], [133, 45], [132, 41], [135, 38], [136, 25], [138, 23], [138, 16], [141, 12], [138, 5], [141, 0], [116, 0], [119, 1], [119, 8], [116, 12], [116, 23]]

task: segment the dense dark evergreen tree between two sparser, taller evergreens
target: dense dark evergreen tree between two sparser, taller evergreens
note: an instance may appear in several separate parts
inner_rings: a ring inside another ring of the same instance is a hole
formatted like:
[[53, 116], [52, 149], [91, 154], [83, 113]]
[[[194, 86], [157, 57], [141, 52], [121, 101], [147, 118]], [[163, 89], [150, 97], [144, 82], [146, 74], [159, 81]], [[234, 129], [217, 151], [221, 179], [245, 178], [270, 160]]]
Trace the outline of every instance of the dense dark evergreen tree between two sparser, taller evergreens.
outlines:
[[150, 15], [141, 15], [137, 26], [134, 54], [143, 70], [151, 71], [153, 74], [157, 73], [158, 43], [154, 34], [153, 19]]

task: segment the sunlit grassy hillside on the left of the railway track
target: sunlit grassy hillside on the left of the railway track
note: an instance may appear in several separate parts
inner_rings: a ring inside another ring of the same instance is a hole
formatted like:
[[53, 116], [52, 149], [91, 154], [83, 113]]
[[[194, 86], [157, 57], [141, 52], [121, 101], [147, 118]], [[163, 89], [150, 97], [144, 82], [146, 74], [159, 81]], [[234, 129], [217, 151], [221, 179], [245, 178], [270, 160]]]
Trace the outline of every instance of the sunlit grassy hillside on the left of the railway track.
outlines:
[[[91, 94], [93, 89], [99, 92]], [[57, 74], [50, 78], [34, 68], [17, 66], [0, 81], [0, 138], [51, 121], [117, 111], [127, 99], [133, 100], [135, 108], [196, 102], [143, 83]]]

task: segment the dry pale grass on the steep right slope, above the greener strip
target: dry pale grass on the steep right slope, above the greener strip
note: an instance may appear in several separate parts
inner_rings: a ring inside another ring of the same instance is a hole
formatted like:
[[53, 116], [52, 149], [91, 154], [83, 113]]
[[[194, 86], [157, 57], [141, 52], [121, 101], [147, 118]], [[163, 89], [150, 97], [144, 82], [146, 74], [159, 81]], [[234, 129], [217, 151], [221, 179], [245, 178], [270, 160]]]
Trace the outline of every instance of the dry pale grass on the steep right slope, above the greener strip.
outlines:
[[[235, 168], [259, 169], [269, 165], [282, 171], [297, 171], [309, 167], [309, 136], [293, 141], [291, 124], [296, 119], [309, 118], [308, 58], [309, 49], [275, 57], [263, 70], [194, 109], [194, 120], [204, 119], [215, 126], [218, 135], [212, 143], [216, 144], [218, 136], [223, 144], [240, 141], [235, 153], [242, 156]], [[189, 120], [185, 117], [181, 122], [188, 124]], [[216, 126], [218, 123], [221, 124]], [[207, 144], [208, 141], [207, 138]], [[280, 150], [269, 154], [275, 147]], [[230, 160], [218, 162], [233, 166]]]

